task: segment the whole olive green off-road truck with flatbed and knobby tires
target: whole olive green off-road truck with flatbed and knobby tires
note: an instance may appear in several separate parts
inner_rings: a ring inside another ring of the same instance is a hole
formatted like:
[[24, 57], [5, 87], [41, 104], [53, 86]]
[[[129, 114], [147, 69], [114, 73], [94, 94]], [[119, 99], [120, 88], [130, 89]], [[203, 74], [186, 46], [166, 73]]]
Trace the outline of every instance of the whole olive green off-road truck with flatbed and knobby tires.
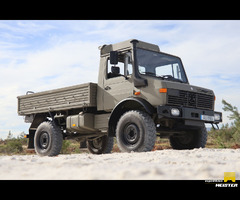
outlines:
[[[56, 156], [63, 140], [91, 153], [151, 151], [156, 136], [173, 149], [204, 148], [205, 123], [218, 124], [212, 90], [190, 85], [179, 57], [136, 39], [103, 45], [98, 83], [18, 96], [18, 114], [31, 123], [28, 148]], [[207, 72], [206, 72], [207, 73]]]

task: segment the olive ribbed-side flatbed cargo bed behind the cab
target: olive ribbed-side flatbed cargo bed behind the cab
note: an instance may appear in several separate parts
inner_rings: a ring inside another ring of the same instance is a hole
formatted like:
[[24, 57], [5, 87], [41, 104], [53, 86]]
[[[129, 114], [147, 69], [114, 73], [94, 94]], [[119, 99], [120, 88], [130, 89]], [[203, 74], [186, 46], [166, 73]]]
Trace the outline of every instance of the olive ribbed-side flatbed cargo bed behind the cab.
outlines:
[[30, 115], [49, 111], [97, 106], [97, 84], [85, 83], [44, 92], [18, 96], [18, 114]]

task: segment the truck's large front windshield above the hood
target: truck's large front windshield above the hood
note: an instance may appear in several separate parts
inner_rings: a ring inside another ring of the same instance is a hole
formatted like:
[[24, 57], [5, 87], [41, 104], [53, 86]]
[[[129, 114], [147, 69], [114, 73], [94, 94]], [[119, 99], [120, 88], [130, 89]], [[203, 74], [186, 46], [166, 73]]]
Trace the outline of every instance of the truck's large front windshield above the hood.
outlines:
[[140, 74], [168, 81], [187, 82], [182, 62], [178, 57], [145, 49], [137, 49], [137, 60]]

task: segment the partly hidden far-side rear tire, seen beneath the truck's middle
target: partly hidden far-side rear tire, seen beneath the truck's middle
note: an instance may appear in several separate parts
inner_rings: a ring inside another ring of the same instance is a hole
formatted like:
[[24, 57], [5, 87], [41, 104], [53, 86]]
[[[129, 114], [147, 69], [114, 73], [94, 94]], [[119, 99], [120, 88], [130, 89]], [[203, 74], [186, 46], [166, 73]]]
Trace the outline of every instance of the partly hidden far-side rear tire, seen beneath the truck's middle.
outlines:
[[111, 153], [113, 149], [113, 142], [113, 137], [104, 135], [103, 137], [97, 138], [95, 140], [88, 140], [87, 148], [88, 151], [92, 154]]

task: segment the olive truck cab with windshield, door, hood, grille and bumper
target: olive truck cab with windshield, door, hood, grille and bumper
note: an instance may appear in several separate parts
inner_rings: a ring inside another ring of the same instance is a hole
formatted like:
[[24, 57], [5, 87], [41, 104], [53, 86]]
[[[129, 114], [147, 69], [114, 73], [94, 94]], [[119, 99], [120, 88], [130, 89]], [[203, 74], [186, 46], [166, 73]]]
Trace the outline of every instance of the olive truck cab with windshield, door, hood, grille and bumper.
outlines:
[[100, 52], [99, 110], [141, 107], [164, 136], [221, 122], [214, 92], [190, 85], [179, 57], [135, 39], [104, 45]]

